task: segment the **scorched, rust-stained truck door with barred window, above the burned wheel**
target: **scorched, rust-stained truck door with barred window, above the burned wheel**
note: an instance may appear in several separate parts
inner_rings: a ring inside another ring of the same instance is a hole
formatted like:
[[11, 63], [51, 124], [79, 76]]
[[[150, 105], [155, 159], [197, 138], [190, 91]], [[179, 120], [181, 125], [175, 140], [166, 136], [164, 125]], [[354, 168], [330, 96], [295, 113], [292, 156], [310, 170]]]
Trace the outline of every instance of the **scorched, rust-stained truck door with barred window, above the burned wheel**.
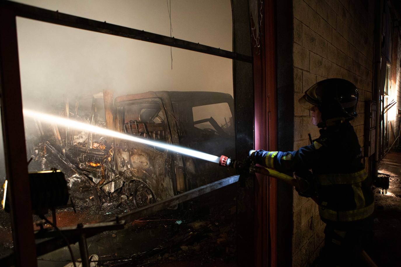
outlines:
[[[169, 122], [160, 98], [115, 101], [115, 129], [164, 143], [172, 143]], [[172, 153], [165, 149], [115, 139], [115, 167], [126, 193], [137, 207], [174, 195]]]

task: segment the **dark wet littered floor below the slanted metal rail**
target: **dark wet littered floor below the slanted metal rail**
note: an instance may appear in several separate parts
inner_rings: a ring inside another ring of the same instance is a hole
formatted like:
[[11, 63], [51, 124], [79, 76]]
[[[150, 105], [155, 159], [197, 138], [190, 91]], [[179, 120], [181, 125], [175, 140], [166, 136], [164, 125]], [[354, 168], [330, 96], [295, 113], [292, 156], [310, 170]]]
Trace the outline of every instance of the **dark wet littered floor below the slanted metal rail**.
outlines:
[[[176, 210], [128, 223], [124, 230], [88, 238], [89, 255], [99, 255], [98, 266], [236, 266], [235, 192], [231, 185], [187, 201]], [[124, 210], [111, 206], [77, 213], [63, 209], [57, 213], [57, 226], [96, 223], [120, 213]], [[4, 226], [0, 227], [1, 252], [6, 253], [12, 250], [9, 215], [3, 211], [0, 219]], [[71, 244], [71, 249], [75, 259], [80, 258], [79, 245]], [[39, 267], [63, 267], [69, 262], [67, 247], [38, 257]]]

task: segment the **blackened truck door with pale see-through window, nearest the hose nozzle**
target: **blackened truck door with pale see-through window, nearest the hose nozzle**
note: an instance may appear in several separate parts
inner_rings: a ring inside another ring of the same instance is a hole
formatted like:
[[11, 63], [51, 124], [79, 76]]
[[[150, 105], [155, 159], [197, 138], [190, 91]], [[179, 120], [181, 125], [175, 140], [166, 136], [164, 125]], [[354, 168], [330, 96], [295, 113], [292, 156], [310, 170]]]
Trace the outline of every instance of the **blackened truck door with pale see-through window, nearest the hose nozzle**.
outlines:
[[[234, 100], [221, 92], [169, 92], [180, 145], [211, 155], [235, 155]], [[187, 190], [234, 175], [229, 168], [182, 157]]]

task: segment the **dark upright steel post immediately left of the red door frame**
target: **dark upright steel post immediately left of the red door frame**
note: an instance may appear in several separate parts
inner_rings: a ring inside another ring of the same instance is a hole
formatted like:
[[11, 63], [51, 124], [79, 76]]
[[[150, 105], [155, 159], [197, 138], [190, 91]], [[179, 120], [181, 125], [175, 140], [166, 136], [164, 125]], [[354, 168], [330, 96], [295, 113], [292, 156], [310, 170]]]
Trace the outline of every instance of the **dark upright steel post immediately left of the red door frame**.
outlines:
[[[248, 1], [232, 0], [233, 51], [252, 55], [251, 25]], [[233, 89], [235, 112], [235, 155], [244, 159], [253, 149], [254, 92], [253, 64], [233, 60]], [[245, 187], [237, 186], [237, 264], [256, 266], [255, 179], [247, 179]]]

